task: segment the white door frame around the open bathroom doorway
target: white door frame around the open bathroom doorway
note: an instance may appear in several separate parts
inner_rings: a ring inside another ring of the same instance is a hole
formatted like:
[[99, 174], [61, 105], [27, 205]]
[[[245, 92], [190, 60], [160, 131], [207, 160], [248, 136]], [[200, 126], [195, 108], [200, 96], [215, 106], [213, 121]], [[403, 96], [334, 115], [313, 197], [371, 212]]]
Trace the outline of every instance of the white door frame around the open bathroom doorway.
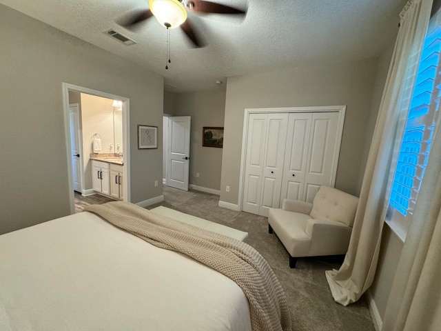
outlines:
[[[72, 157], [70, 153], [70, 125], [69, 125], [69, 91], [79, 92], [85, 94], [95, 95], [96, 97], [103, 97], [107, 99], [118, 99], [123, 101], [123, 169], [125, 180], [123, 182], [124, 190], [124, 201], [131, 201], [130, 197], [130, 99], [126, 97], [121, 97], [117, 94], [111, 94], [107, 92], [102, 92], [98, 90], [92, 90], [90, 88], [85, 88], [83, 86], [76, 86], [70, 83], [63, 82], [62, 84], [63, 92], [63, 112], [64, 112], [64, 131], [65, 131], [65, 146], [66, 146], [66, 157], [68, 159], [68, 188], [70, 197], [70, 213], [75, 212], [75, 202], [74, 202], [74, 187], [72, 183]], [[82, 141], [82, 140], [81, 140]], [[82, 149], [82, 148], [81, 148]], [[81, 154], [82, 155], [82, 154]], [[81, 185], [83, 183], [83, 176], [81, 175]], [[84, 188], [84, 186], [83, 186]]]

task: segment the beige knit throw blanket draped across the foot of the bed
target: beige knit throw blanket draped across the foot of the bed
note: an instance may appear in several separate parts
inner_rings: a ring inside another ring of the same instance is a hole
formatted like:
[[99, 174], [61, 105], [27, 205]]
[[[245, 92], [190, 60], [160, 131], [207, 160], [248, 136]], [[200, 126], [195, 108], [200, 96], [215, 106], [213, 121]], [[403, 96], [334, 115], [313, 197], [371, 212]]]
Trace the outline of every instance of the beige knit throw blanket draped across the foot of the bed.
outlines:
[[159, 248], [186, 254], [232, 279], [248, 299], [253, 331], [291, 331], [285, 292], [267, 261], [247, 243], [124, 201], [90, 205], [85, 211]]

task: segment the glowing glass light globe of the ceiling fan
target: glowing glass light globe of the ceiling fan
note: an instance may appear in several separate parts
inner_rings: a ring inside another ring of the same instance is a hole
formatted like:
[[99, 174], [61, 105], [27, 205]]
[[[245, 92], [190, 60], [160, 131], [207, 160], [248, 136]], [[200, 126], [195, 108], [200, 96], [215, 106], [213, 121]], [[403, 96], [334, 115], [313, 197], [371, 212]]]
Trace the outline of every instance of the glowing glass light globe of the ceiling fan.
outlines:
[[149, 8], [165, 28], [177, 28], [187, 19], [187, 10], [178, 0], [149, 0]]

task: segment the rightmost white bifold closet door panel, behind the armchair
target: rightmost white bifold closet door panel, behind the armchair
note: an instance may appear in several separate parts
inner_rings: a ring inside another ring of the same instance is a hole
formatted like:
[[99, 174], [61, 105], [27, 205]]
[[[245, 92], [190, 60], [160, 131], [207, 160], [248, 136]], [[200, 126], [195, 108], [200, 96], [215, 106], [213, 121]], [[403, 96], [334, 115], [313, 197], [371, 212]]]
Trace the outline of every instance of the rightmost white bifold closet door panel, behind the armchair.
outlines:
[[340, 149], [337, 128], [338, 112], [313, 113], [303, 201], [312, 202], [320, 185], [334, 187]]

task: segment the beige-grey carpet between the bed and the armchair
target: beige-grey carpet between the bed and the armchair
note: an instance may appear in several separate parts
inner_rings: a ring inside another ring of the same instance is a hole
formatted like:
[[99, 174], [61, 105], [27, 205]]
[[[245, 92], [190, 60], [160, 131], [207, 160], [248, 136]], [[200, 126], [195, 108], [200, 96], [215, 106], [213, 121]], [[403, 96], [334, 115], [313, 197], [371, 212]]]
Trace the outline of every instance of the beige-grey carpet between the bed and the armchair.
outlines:
[[185, 192], [165, 187], [164, 197], [165, 201], [151, 205], [148, 209], [163, 205], [248, 232], [247, 243], [267, 259], [287, 294], [293, 330], [375, 330], [364, 298], [348, 307], [332, 299], [325, 270], [338, 268], [341, 259], [299, 258], [296, 269], [291, 269], [288, 253], [282, 243], [274, 234], [268, 233], [266, 217], [220, 208], [218, 196], [194, 190]]

